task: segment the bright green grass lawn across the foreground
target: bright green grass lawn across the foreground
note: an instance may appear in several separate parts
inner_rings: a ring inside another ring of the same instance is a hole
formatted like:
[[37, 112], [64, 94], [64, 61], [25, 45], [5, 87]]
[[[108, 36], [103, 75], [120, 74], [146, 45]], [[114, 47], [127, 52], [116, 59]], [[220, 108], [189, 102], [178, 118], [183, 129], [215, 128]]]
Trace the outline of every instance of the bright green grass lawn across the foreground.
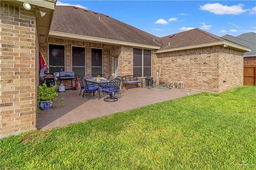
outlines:
[[0, 169], [256, 169], [256, 87], [1, 140]]

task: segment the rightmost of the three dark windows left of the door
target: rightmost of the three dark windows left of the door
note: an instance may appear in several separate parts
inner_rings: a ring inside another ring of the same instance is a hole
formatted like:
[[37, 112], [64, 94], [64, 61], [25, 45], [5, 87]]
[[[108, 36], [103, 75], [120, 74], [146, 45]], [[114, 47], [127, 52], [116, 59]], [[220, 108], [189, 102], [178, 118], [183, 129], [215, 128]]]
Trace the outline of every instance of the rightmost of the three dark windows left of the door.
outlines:
[[92, 48], [91, 53], [91, 74], [97, 77], [102, 74], [102, 49]]

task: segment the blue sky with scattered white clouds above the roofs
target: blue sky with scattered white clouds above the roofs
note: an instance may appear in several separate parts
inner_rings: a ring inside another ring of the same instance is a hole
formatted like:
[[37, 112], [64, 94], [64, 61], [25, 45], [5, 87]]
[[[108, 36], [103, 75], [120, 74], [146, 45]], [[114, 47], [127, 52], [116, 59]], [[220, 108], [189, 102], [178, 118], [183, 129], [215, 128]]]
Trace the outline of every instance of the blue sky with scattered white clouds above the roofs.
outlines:
[[158, 37], [193, 28], [218, 36], [256, 32], [256, 1], [58, 1], [57, 5], [107, 14]]

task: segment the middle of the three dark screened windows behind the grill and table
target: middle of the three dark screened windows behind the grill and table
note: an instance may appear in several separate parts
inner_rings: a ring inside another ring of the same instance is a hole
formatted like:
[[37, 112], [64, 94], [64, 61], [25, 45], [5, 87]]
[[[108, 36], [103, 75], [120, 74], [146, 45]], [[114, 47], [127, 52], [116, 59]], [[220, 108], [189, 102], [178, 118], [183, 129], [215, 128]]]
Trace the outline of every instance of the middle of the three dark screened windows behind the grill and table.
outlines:
[[78, 77], [85, 75], [85, 47], [72, 47], [72, 71]]

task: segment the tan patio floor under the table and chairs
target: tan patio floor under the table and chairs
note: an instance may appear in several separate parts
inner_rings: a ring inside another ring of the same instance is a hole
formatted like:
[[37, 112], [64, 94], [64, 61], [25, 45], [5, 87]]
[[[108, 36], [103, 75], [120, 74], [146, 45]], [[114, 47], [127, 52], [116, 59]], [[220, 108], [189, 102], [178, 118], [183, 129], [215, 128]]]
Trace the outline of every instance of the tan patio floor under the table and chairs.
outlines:
[[87, 100], [87, 96], [84, 98], [82, 98], [82, 95], [79, 96], [79, 91], [67, 90], [60, 93], [59, 97], [65, 98], [65, 106], [61, 106], [59, 101], [55, 101], [51, 109], [39, 113], [37, 128], [42, 130], [52, 129], [200, 92], [187, 89], [150, 90], [147, 88], [131, 88], [127, 91], [125, 89], [121, 90], [121, 96], [116, 96], [118, 101], [108, 103], [103, 100], [107, 95], [101, 95], [102, 98], [98, 100], [98, 94], [95, 94], [95, 97], [91, 94], [89, 100]]

